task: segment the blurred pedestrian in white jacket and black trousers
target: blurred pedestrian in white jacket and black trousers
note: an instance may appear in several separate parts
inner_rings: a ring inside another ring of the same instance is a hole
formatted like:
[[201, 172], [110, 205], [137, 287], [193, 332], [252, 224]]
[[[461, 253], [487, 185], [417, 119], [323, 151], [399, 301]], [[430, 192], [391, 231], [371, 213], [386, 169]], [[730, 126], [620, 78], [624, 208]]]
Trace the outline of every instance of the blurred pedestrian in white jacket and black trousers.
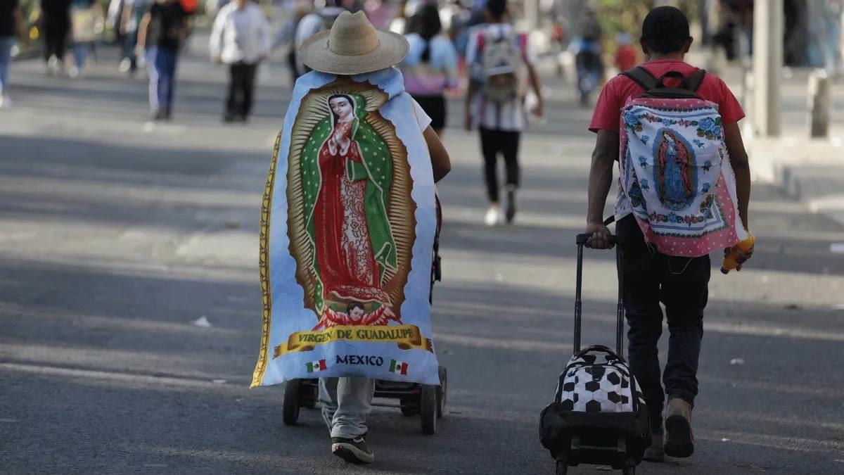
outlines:
[[252, 0], [235, 0], [217, 14], [211, 31], [211, 57], [214, 63], [229, 67], [229, 94], [223, 120], [246, 122], [252, 111], [255, 76], [269, 54], [269, 23]]

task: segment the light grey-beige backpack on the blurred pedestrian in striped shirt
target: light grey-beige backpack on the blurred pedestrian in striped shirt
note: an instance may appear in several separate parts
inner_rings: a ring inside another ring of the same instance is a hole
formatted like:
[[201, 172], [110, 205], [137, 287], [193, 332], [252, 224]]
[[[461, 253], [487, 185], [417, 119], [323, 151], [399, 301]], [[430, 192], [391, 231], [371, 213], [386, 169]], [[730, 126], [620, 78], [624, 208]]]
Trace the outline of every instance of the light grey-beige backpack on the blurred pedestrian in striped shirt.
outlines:
[[478, 34], [481, 93], [495, 103], [524, 96], [527, 35], [490, 31]]

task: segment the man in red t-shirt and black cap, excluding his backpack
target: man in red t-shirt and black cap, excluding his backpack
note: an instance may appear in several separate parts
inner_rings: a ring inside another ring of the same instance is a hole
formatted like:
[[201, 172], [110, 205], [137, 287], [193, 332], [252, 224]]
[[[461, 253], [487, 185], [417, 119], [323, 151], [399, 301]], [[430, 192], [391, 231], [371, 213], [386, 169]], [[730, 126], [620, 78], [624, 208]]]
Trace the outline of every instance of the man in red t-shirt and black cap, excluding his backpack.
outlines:
[[[659, 78], [668, 71], [688, 76], [697, 70], [684, 63], [692, 38], [689, 21], [674, 7], [654, 8], [642, 24], [641, 48], [647, 57], [644, 64]], [[668, 78], [668, 86], [679, 85], [680, 79]], [[611, 79], [601, 92], [589, 129], [598, 134], [589, 172], [589, 205], [587, 246], [611, 248], [609, 229], [603, 225], [603, 207], [613, 182], [614, 161], [619, 157], [620, 110], [627, 101], [639, 96], [642, 88], [632, 79], [619, 75]], [[750, 172], [738, 121], [744, 117], [722, 79], [706, 74], [698, 96], [718, 106], [722, 116], [724, 143], [736, 177], [738, 214], [748, 226]], [[668, 456], [691, 456], [694, 436], [691, 410], [697, 395], [697, 368], [703, 336], [703, 309], [708, 298], [710, 277], [709, 256], [681, 258], [668, 256], [647, 245], [624, 192], [619, 188], [616, 205], [616, 233], [622, 237], [624, 258], [621, 270], [625, 276], [625, 312], [630, 325], [628, 333], [630, 369], [636, 376], [651, 415], [653, 445], [646, 460], [662, 461]], [[663, 303], [668, 330], [668, 361], [663, 372], [665, 390], [660, 384], [657, 341], [663, 329]], [[663, 404], [668, 395], [663, 451]]]

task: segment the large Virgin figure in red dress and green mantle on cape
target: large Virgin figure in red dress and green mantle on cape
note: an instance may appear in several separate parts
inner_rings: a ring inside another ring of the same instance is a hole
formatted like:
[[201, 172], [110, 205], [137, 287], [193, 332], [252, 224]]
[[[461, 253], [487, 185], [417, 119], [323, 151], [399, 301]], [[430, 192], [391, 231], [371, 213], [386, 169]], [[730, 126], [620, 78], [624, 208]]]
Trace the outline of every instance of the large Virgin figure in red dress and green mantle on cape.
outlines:
[[320, 322], [349, 308], [398, 320], [383, 288], [387, 271], [397, 268], [387, 216], [390, 151], [364, 120], [363, 96], [336, 94], [327, 103], [331, 114], [317, 123], [300, 161], [311, 270], [317, 277], [313, 309]]

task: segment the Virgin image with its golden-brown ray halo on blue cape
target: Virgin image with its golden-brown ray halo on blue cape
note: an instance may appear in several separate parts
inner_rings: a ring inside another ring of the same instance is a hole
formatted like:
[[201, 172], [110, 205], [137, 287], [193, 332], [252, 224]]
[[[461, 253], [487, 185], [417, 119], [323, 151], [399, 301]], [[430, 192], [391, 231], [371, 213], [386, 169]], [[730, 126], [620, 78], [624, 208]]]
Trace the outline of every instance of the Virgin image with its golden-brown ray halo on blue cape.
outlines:
[[[297, 260], [297, 281], [306, 290], [305, 306], [317, 314], [313, 330], [400, 325], [408, 245], [414, 238], [408, 226], [412, 201], [394, 193], [408, 196], [406, 189], [394, 189], [396, 182], [410, 182], [402, 160], [406, 151], [389, 123], [367, 112], [362, 94], [320, 96], [327, 117], [306, 136], [299, 167], [288, 172], [291, 183], [300, 183], [288, 188], [298, 194], [289, 196], [289, 205], [301, 204], [300, 213], [288, 215], [290, 251]], [[398, 170], [394, 161], [400, 162]], [[292, 222], [297, 216], [304, 228], [301, 239]]]

